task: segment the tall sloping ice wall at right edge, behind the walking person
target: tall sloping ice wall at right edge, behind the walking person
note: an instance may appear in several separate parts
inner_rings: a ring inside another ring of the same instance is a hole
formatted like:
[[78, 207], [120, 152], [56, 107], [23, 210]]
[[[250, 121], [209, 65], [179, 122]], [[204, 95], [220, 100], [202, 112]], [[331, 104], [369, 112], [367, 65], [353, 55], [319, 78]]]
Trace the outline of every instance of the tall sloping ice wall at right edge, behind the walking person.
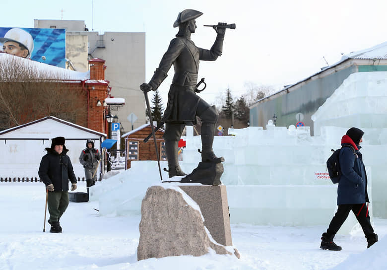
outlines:
[[[387, 72], [356, 72], [312, 116], [315, 135], [332, 142], [350, 127], [365, 134], [364, 163], [372, 168], [374, 215], [387, 218]], [[321, 132], [320, 132], [321, 131]]]

